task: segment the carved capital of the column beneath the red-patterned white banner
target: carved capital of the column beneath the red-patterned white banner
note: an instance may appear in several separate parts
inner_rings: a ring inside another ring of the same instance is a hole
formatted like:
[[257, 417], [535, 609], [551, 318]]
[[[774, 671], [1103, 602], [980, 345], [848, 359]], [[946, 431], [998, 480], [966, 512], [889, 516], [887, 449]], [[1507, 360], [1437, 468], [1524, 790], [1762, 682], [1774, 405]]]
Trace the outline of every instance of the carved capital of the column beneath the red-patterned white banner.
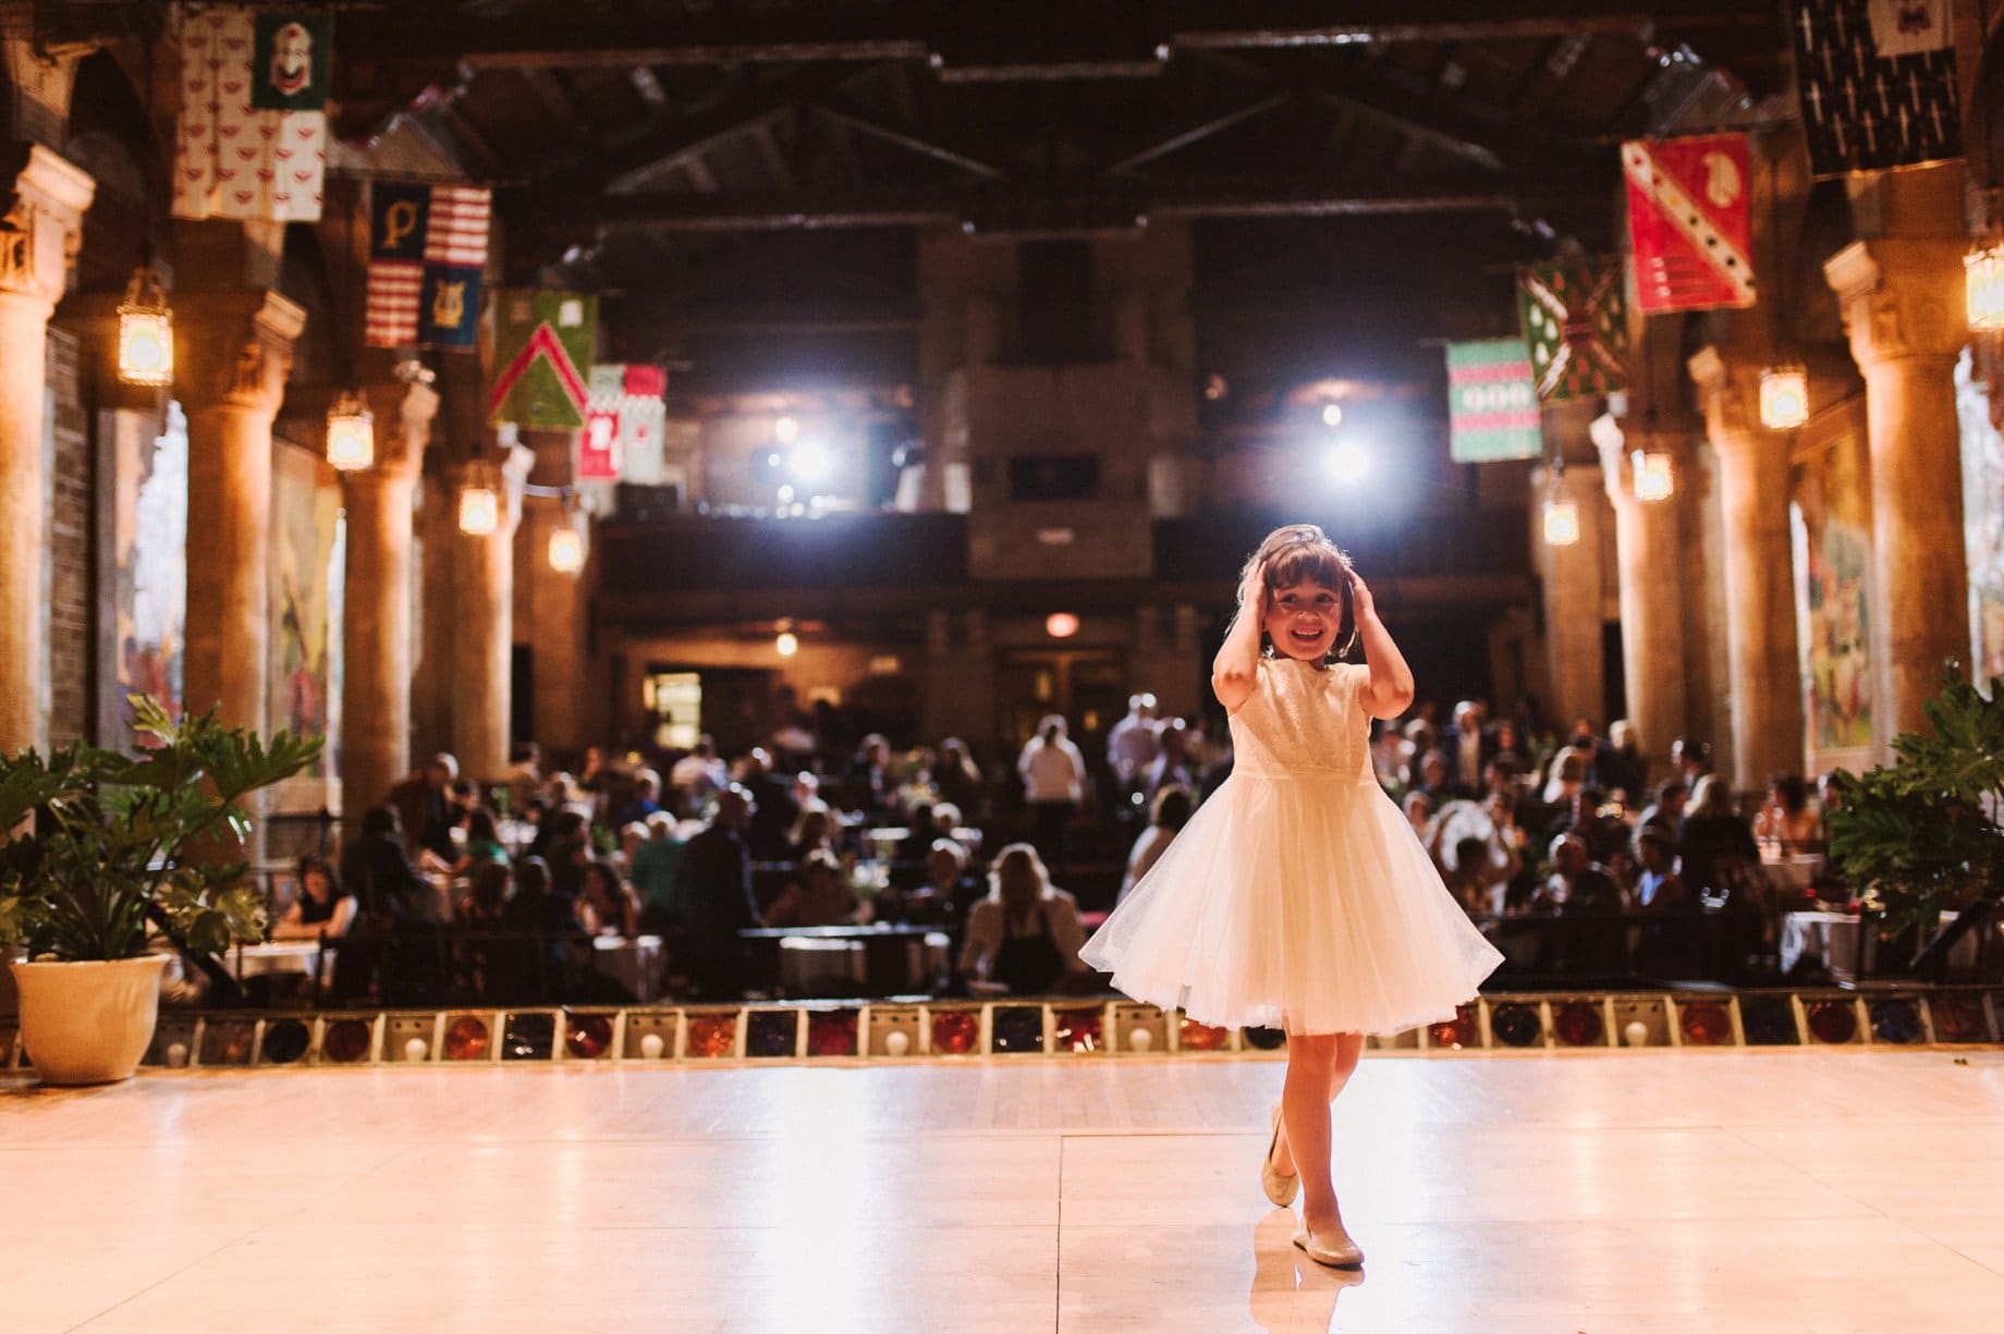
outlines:
[[273, 290], [198, 292], [174, 310], [174, 387], [190, 411], [277, 415], [307, 312]]

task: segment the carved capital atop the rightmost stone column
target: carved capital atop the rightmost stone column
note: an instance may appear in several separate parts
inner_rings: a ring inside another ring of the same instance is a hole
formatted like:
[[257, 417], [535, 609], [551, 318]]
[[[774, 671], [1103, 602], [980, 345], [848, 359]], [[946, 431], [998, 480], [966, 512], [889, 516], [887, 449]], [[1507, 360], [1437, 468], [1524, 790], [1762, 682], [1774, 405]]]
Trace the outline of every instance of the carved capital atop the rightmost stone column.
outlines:
[[1852, 359], [1870, 369], [1908, 357], [1956, 357], [1970, 341], [1958, 236], [1854, 240], [1828, 260]]

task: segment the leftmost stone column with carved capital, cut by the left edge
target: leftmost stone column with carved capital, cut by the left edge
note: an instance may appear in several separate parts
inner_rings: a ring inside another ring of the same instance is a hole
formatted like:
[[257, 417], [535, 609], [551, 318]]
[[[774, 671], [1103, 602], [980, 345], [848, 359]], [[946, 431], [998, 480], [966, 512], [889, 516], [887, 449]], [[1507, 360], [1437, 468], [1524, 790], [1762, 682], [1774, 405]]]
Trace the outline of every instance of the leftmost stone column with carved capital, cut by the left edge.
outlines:
[[48, 741], [48, 549], [42, 395], [48, 316], [62, 298], [96, 182], [40, 144], [0, 148], [0, 753]]

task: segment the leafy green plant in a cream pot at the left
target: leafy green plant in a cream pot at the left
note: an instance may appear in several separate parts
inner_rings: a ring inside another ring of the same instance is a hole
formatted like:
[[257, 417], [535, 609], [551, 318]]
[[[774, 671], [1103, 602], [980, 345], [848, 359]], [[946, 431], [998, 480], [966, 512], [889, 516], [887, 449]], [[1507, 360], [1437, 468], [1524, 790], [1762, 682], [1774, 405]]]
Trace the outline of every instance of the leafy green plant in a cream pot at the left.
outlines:
[[250, 833], [238, 801], [321, 751], [319, 737], [265, 745], [214, 713], [132, 705], [156, 739], [136, 757], [84, 743], [0, 755], [0, 943], [26, 947], [12, 963], [20, 1036], [44, 1084], [138, 1066], [168, 957], [150, 937], [204, 957], [263, 931], [265, 895], [224, 863]]

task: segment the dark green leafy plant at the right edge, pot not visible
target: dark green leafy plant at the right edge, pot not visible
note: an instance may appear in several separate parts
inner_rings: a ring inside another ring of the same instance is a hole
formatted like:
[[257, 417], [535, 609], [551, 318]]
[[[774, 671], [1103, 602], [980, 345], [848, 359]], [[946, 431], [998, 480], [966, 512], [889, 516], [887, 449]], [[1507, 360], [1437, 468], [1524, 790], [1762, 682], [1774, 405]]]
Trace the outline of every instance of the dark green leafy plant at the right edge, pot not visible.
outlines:
[[[1838, 771], [1828, 813], [1830, 859], [1888, 933], [1932, 943], [1916, 963], [1944, 961], [1960, 935], [2004, 899], [2004, 691], [1988, 697], [1950, 663], [1926, 705], [1928, 733], [1902, 733], [1898, 759]], [[1958, 919], [1940, 925], [1944, 911]]]

